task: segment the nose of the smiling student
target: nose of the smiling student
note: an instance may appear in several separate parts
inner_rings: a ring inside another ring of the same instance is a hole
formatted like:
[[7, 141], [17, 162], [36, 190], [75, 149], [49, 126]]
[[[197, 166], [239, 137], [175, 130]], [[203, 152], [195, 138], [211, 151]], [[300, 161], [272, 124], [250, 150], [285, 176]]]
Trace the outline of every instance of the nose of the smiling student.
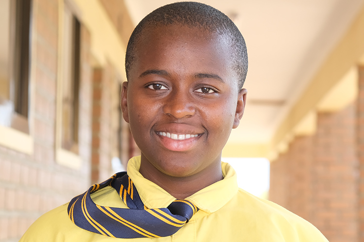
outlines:
[[195, 104], [188, 92], [172, 91], [169, 98], [165, 99], [163, 112], [176, 119], [192, 117], [195, 112]]

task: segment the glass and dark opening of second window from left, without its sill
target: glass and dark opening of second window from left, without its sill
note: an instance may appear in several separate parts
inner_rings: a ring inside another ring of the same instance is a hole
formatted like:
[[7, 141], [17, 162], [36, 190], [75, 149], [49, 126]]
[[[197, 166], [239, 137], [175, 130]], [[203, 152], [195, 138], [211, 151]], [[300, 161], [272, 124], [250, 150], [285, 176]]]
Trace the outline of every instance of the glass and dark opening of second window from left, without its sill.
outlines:
[[78, 153], [81, 24], [65, 5], [62, 78], [62, 149]]

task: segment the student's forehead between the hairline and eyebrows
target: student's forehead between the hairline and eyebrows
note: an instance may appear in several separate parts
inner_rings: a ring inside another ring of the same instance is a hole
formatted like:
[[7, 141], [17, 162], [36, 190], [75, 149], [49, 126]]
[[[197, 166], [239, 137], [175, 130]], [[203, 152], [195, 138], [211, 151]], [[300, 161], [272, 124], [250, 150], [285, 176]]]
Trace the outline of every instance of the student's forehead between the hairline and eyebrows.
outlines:
[[234, 73], [229, 39], [200, 28], [175, 24], [146, 28], [133, 55], [132, 69], [137, 72], [161, 66], [211, 71], [218, 66], [216, 71]]

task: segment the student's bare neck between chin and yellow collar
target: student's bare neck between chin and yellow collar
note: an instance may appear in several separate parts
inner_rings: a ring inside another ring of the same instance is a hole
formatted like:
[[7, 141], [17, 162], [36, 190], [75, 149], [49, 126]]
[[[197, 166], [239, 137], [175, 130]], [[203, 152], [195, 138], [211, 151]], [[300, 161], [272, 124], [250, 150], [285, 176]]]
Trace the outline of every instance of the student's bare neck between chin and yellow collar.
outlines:
[[162, 187], [177, 199], [189, 197], [199, 190], [222, 180], [221, 163], [213, 164], [202, 171], [183, 177], [175, 177], [163, 173], [149, 162], [141, 162], [139, 172], [144, 178]]

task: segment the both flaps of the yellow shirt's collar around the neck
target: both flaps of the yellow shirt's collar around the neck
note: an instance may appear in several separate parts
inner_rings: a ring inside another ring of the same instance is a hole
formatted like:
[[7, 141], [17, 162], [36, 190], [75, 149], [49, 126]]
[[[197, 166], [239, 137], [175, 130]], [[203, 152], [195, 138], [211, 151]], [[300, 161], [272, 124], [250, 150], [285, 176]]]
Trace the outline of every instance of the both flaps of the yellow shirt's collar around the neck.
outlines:
[[[139, 173], [140, 156], [129, 160], [127, 172], [132, 179], [144, 205], [148, 208], [166, 208], [176, 198], [154, 182], [145, 179]], [[228, 163], [221, 162], [224, 179], [207, 186], [197, 193], [186, 197], [204, 212], [216, 212], [222, 208], [238, 191], [236, 173]]]

